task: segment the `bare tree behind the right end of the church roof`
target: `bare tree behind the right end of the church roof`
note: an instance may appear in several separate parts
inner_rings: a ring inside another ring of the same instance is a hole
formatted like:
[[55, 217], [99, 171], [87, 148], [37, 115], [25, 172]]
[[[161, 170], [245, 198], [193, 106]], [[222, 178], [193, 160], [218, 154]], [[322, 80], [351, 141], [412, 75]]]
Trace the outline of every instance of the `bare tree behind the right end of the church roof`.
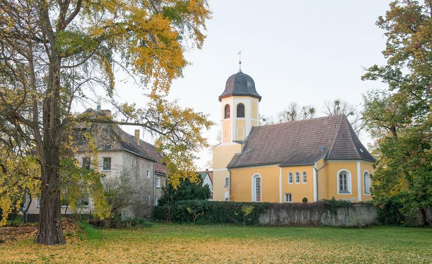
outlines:
[[340, 98], [336, 98], [332, 101], [324, 101], [324, 114], [327, 116], [345, 115], [357, 135], [359, 135], [364, 127], [360, 112], [357, 111], [356, 107]]

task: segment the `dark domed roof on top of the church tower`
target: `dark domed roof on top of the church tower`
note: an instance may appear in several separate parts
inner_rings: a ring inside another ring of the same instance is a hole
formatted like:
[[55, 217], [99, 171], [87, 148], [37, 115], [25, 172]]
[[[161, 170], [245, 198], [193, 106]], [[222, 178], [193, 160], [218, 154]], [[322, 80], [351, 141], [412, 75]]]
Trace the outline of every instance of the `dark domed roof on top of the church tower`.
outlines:
[[261, 101], [261, 96], [255, 90], [255, 82], [251, 76], [239, 71], [228, 78], [225, 91], [219, 96], [219, 101], [227, 96], [251, 96]]

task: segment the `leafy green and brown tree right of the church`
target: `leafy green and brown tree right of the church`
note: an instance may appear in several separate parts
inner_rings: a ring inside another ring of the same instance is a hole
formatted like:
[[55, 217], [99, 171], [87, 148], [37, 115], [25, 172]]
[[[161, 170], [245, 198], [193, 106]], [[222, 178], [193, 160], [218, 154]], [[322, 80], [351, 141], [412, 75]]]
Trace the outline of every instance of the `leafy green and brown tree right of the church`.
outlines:
[[377, 25], [387, 37], [382, 52], [387, 64], [370, 67], [362, 79], [380, 80], [389, 91], [364, 96], [362, 119], [378, 158], [372, 194], [379, 206], [397, 199], [405, 215], [419, 210], [427, 225], [425, 208], [432, 205], [432, 1], [394, 1]]

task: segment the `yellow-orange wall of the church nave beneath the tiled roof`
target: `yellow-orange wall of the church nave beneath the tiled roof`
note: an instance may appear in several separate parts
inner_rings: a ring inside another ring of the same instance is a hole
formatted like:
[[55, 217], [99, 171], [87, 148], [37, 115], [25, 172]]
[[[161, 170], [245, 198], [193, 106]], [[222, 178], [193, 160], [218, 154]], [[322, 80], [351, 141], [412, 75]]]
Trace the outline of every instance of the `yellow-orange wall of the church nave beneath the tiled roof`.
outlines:
[[[360, 166], [360, 200], [371, 200], [370, 195], [363, 192], [363, 172], [365, 170], [372, 174], [372, 164], [358, 161], [324, 162], [316, 163], [318, 169], [318, 200], [348, 199], [353, 202], [359, 201], [358, 166]], [[351, 193], [338, 194], [338, 172], [346, 170], [351, 174]], [[292, 183], [288, 182], [288, 174], [292, 173]], [[295, 182], [295, 174], [299, 172], [300, 182]], [[303, 183], [303, 172], [306, 172], [306, 183]], [[314, 168], [312, 165], [286, 166], [278, 165], [256, 166], [231, 169], [231, 200], [252, 201], [252, 176], [261, 176], [261, 195], [264, 202], [285, 202], [285, 194], [290, 193], [292, 202], [301, 202], [304, 197], [308, 202], [314, 201]], [[279, 178], [279, 174], [281, 178]], [[228, 171], [223, 173], [228, 176]], [[222, 182], [222, 181], [221, 181]], [[222, 183], [221, 183], [222, 184]], [[227, 189], [225, 189], [227, 191]]]

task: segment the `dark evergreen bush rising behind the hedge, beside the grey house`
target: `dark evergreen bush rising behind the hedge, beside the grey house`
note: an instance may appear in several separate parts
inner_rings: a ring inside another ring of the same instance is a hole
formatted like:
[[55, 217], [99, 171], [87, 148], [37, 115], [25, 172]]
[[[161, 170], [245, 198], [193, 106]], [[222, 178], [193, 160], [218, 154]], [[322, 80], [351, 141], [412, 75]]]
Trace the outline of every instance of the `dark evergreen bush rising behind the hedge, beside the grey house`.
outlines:
[[162, 197], [159, 199], [159, 205], [173, 204], [180, 200], [207, 200], [210, 198], [209, 185], [202, 185], [202, 180], [191, 182], [189, 179], [181, 180], [177, 188], [170, 183], [162, 188]]

